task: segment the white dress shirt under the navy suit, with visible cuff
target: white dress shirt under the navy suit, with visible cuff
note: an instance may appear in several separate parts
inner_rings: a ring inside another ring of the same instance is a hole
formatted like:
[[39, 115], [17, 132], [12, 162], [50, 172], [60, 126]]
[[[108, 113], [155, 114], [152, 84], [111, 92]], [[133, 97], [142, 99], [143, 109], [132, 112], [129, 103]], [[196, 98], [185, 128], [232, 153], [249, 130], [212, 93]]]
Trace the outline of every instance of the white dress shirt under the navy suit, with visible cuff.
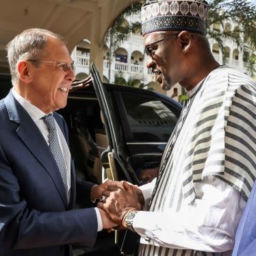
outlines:
[[[48, 138], [49, 131], [47, 129], [47, 125], [44, 123], [44, 120], [42, 120], [42, 117], [50, 113], [44, 113], [38, 107], [29, 103], [29, 101], [21, 97], [21, 95], [18, 94], [18, 92], [16, 92], [15, 88], [12, 88], [12, 95], [14, 96], [16, 101], [18, 101], [18, 103], [20, 103], [23, 106], [27, 114], [29, 114], [31, 119], [35, 122], [36, 126], [42, 133], [44, 140], [49, 145], [49, 138]], [[62, 154], [64, 157], [65, 166], [66, 166], [66, 178], [67, 178], [67, 185], [68, 185], [68, 201], [69, 201], [70, 192], [71, 192], [71, 153], [68, 149], [68, 144], [66, 143], [66, 139], [64, 138], [62, 130], [60, 129], [56, 120], [55, 120], [55, 127], [57, 129], [57, 139], [59, 141], [60, 149], [62, 150]], [[97, 215], [98, 231], [101, 231], [103, 229], [101, 214], [97, 207], [95, 207], [94, 209]]]

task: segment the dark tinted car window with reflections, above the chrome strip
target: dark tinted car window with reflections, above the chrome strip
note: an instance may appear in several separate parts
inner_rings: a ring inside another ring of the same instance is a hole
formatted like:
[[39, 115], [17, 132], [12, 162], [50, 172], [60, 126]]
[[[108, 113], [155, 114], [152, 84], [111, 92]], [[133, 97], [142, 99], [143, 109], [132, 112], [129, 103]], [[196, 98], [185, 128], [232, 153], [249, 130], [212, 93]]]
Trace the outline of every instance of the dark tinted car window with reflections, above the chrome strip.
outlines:
[[177, 123], [177, 109], [155, 97], [122, 94], [134, 142], [167, 142]]

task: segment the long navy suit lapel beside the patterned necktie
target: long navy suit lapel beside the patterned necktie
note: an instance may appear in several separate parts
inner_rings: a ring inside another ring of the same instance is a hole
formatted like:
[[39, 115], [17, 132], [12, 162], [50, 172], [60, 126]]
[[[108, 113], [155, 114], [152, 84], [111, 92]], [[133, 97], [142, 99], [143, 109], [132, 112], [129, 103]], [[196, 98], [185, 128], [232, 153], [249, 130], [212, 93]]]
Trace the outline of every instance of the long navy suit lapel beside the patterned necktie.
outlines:
[[40, 162], [42, 166], [44, 166], [44, 169], [50, 175], [55, 187], [57, 188], [57, 191], [62, 198], [62, 201], [67, 207], [68, 202], [62, 177], [49, 146], [42, 136], [42, 133], [29, 114], [27, 114], [25, 109], [18, 103], [18, 101], [16, 101], [16, 99], [14, 99], [12, 92], [10, 92], [5, 98], [5, 105], [8, 109], [10, 120], [19, 124], [18, 129], [16, 130], [17, 135], [19, 138], [21, 138], [25, 146], [27, 146], [31, 154], [38, 159], [38, 162]]

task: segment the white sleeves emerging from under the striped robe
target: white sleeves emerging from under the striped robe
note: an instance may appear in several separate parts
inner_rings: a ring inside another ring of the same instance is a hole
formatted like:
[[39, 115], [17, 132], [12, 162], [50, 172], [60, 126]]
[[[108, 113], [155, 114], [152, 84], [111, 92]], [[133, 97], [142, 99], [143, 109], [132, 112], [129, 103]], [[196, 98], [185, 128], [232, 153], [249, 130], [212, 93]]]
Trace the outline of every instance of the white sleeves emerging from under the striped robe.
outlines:
[[[140, 187], [145, 205], [149, 204], [155, 181]], [[194, 183], [194, 188], [200, 199], [179, 212], [138, 212], [133, 228], [142, 236], [140, 242], [216, 253], [227, 251], [222, 255], [231, 255], [246, 201], [240, 192], [214, 176]]]

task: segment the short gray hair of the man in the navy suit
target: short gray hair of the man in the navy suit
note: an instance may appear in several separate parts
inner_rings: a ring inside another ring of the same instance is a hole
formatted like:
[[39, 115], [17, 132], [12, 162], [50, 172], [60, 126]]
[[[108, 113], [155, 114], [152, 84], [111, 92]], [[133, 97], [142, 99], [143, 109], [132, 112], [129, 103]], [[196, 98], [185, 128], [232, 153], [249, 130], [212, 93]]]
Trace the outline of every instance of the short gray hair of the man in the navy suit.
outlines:
[[[37, 60], [43, 54], [49, 36], [60, 39], [66, 44], [64, 38], [47, 29], [26, 29], [15, 36], [6, 46], [12, 84], [18, 82], [17, 64], [20, 60]], [[34, 63], [36, 65], [36, 63]]]

